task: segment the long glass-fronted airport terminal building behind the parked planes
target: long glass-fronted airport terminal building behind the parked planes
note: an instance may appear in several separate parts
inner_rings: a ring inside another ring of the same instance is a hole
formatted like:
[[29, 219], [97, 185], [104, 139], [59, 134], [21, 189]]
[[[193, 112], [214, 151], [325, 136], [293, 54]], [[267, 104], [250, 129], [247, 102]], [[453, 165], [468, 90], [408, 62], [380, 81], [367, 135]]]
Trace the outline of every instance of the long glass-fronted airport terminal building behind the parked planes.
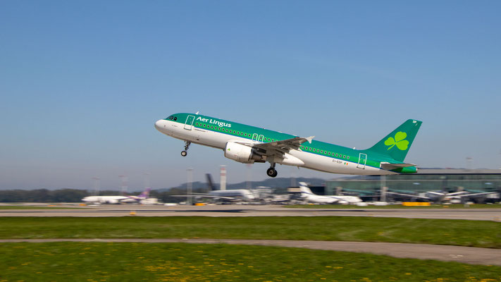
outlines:
[[388, 191], [419, 194], [428, 191], [500, 192], [501, 169], [419, 169], [418, 173], [390, 176], [352, 176], [326, 181], [326, 195], [369, 197]]

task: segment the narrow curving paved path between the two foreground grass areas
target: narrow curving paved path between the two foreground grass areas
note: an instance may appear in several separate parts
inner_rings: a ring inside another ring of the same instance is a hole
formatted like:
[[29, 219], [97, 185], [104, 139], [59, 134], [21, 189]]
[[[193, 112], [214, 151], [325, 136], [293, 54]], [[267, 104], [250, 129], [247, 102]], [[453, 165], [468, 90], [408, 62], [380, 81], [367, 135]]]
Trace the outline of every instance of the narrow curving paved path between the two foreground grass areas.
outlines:
[[266, 245], [280, 247], [304, 247], [314, 250], [346, 252], [368, 252], [399, 258], [435, 259], [466, 264], [501, 266], [501, 250], [481, 247], [459, 247], [448, 245], [340, 242], [340, 241], [299, 241], [299, 240], [226, 240], [226, 239], [6, 239], [0, 243], [45, 243], [45, 242], [104, 242], [104, 243], [197, 243], [231, 245]]

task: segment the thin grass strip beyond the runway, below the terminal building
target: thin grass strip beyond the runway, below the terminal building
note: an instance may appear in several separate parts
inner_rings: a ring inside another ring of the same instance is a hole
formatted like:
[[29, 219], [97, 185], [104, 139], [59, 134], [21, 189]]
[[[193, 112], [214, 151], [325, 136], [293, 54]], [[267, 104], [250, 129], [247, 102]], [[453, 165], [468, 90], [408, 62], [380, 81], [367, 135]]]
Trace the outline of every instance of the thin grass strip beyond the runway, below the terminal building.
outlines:
[[406, 207], [402, 204], [388, 204], [388, 206], [359, 207], [355, 204], [291, 204], [290, 208], [306, 209], [501, 209], [501, 204], [431, 204], [430, 206]]

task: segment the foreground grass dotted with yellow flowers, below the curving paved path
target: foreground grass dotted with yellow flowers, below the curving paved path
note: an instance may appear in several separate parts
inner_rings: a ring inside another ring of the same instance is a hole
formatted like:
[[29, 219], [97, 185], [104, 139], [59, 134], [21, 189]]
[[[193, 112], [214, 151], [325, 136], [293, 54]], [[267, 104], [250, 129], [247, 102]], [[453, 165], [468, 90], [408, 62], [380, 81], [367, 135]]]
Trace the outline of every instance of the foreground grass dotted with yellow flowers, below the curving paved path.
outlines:
[[501, 281], [500, 266], [248, 245], [3, 243], [0, 281]]

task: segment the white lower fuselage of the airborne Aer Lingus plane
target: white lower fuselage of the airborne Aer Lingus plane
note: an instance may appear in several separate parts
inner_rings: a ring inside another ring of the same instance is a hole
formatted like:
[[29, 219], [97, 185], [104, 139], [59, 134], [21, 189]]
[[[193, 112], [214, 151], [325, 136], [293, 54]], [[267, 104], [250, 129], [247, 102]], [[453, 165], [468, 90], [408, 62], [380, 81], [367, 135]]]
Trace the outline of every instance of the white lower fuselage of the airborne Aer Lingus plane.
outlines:
[[[185, 125], [183, 123], [178, 123], [175, 121], [159, 120], [156, 121], [155, 127], [161, 133], [169, 135], [171, 137], [190, 141], [194, 144], [214, 147], [223, 150], [225, 149], [226, 143], [228, 142], [259, 143], [257, 141], [252, 141], [244, 137], [218, 133], [212, 130], [205, 130], [203, 128], [197, 128], [193, 125]], [[294, 166], [310, 168], [316, 171], [357, 175], [395, 174], [392, 171], [386, 171], [384, 169], [371, 166], [364, 166], [364, 168], [359, 168], [357, 167], [356, 162], [335, 159], [333, 157], [325, 157], [318, 154], [312, 154], [311, 152], [292, 149], [290, 150], [289, 154], [304, 163]], [[279, 161], [277, 161], [277, 163], [282, 164]]]

